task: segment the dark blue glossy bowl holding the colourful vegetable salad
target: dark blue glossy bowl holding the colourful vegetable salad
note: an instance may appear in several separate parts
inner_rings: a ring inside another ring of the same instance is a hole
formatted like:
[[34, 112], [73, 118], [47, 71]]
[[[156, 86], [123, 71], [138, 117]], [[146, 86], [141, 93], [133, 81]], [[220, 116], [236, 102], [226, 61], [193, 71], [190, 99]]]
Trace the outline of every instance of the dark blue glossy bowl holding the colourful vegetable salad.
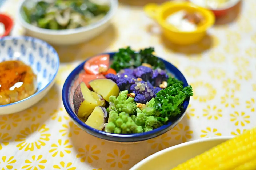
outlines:
[[[110, 59], [113, 58], [115, 52], [111, 53], [105, 53], [110, 55]], [[161, 58], [160, 58], [161, 59]], [[88, 60], [88, 59], [87, 59]], [[67, 77], [63, 89], [62, 89], [62, 101], [64, 104], [64, 107], [69, 114], [70, 118], [73, 120], [73, 122], [82, 130], [86, 131], [87, 133], [112, 142], [139, 142], [144, 141], [147, 139], [151, 139], [154, 137], [157, 137], [163, 133], [166, 133], [170, 129], [172, 129], [174, 126], [176, 126], [183, 116], [185, 115], [185, 111], [189, 105], [189, 99], [183, 103], [183, 109], [181, 111], [181, 114], [176, 116], [172, 121], [168, 122], [168, 124], [163, 125], [157, 129], [154, 129], [149, 132], [143, 132], [143, 133], [137, 133], [137, 134], [112, 134], [112, 133], [106, 133], [105, 131], [97, 130], [94, 128], [91, 128], [90, 126], [83, 123], [75, 114], [74, 111], [74, 105], [73, 105], [73, 95], [76, 87], [79, 85], [78, 76], [79, 73], [83, 72], [83, 65], [87, 61], [85, 60], [83, 63], [81, 63], [79, 66], [77, 66]], [[166, 69], [174, 75], [177, 79], [181, 80], [184, 83], [184, 86], [188, 86], [187, 80], [183, 76], [183, 74], [171, 63], [161, 59], [166, 66]]]

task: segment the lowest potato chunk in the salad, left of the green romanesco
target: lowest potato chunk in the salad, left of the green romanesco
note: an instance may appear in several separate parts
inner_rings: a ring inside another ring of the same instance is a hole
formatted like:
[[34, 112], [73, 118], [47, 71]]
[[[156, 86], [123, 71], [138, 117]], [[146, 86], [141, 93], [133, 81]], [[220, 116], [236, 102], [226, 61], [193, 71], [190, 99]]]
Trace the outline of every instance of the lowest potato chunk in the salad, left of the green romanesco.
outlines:
[[107, 111], [104, 107], [95, 107], [91, 115], [85, 122], [86, 125], [91, 126], [94, 129], [102, 130], [105, 127], [105, 120], [107, 117]]

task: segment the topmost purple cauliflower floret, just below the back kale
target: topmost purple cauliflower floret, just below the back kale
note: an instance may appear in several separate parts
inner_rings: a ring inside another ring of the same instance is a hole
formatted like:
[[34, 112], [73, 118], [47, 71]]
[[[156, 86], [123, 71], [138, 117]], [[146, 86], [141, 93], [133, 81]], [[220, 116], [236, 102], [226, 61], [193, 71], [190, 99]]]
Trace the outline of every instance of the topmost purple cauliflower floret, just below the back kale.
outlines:
[[142, 78], [144, 81], [151, 79], [153, 71], [151, 68], [146, 66], [139, 66], [133, 70], [133, 75], [137, 78]]

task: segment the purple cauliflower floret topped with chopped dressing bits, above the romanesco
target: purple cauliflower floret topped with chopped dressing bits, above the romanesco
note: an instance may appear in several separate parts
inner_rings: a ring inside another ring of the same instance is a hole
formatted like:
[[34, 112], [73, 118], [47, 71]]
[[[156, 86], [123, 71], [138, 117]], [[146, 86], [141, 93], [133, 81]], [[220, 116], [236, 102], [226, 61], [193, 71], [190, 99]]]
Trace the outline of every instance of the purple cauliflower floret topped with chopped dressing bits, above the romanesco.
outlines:
[[134, 101], [137, 103], [146, 104], [155, 97], [154, 87], [149, 82], [135, 82], [130, 88], [130, 91], [135, 93]]

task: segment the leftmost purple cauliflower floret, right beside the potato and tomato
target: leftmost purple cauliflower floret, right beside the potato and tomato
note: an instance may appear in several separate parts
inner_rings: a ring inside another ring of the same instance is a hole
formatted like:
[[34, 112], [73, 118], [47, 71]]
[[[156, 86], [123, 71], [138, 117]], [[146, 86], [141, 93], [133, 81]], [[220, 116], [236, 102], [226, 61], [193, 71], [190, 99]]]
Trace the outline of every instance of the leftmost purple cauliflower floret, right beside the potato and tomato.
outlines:
[[131, 85], [133, 85], [136, 80], [136, 77], [134, 77], [133, 75], [126, 74], [114, 75], [110, 73], [107, 74], [105, 77], [117, 83], [120, 91], [129, 90]]

